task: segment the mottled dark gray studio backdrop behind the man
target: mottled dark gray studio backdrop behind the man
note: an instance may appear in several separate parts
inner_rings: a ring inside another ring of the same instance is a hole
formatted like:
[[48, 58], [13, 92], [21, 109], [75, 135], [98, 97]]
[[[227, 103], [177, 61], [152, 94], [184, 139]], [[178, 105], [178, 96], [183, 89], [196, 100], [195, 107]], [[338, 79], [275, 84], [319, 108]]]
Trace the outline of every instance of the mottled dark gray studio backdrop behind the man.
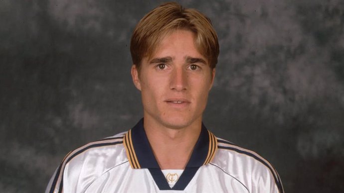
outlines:
[[[0, 192], [43, 192], [74, 148], [142, 117], [130, 37], [157, 0], [0, 0]], [[288, 193], [344, 192], [344, 0], [184, 0], [220, 56], [204, 114]]]

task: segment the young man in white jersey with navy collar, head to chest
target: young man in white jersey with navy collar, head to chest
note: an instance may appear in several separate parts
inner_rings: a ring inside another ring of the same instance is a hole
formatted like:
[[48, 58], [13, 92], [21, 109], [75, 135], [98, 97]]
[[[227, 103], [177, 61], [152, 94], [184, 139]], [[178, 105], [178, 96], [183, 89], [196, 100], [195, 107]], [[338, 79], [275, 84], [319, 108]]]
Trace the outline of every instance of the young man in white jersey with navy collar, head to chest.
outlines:
[[165, 3], [144, 16], [131, 40], [144, 118], [69, 153], [46, 192], [283, 193], [269, 162], [202, 124], [218, 53], [199, 11]]

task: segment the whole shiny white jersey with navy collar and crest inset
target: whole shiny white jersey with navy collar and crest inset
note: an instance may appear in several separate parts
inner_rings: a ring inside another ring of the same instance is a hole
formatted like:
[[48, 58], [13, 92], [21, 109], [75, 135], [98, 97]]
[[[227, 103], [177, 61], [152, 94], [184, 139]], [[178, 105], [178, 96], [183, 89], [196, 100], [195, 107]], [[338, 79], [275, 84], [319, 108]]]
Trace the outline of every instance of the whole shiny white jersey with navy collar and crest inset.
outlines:
[[[178, 158], [175, 158], [178, 159]], [[204, 125], [185, 169], [162, 171], [143, 119], [128, 132], [70, 152], [46, 193], [284, 193], [269, 162]]]

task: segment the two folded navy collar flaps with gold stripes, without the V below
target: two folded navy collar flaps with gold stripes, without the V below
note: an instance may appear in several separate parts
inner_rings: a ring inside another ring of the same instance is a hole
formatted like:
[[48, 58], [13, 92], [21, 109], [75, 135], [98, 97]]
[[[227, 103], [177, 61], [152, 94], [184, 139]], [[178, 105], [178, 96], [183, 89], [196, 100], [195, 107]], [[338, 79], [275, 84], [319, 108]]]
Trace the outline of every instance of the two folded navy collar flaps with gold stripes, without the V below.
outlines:
[[[148, 141], [143, 121], [142, 118], [124, 136], [123, 144], [126, 148], [128, 160], [133, 169], [160, 169]], [[202, 165], [208, 164], [214, 158], [216, 150], [216, 137], [202, 123], [200, 135], [186, 168], [199, 168]]]

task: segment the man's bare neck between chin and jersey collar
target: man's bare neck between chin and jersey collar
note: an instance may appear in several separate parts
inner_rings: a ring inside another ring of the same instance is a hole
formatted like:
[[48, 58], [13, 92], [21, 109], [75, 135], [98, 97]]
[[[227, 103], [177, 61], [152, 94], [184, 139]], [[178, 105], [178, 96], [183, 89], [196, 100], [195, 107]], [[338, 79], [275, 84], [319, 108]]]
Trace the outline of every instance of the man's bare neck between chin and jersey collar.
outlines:
[[168, 128], [146, 118], [144, 127], [162, 170], [184, 169], [201, 131], [201, 119], [183, 128]]

